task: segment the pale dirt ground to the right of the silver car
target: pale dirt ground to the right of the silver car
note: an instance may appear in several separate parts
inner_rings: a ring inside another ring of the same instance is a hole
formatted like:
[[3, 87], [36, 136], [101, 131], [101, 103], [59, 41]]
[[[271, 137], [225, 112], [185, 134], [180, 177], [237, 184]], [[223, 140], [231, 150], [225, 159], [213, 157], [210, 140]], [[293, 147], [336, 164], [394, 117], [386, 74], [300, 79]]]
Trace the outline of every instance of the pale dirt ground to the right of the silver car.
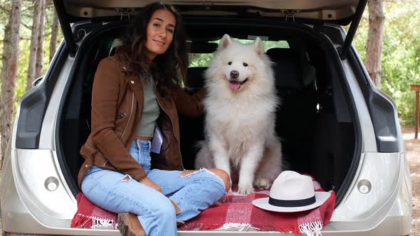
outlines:
[[403, 127], [402, 132], [406, 156], [409, 160], [411, 185], [413, 189], [413, 220], [411, 235], [420, 235], [420, 134], [418, 139], [414, 139], [414, 127]]

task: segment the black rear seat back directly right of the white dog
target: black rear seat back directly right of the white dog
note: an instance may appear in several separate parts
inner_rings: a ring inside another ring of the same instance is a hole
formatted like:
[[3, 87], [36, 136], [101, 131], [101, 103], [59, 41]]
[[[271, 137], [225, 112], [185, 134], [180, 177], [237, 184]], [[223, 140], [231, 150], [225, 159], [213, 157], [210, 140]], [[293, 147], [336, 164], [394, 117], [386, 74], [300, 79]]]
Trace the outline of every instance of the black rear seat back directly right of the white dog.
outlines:
[[315, 68], [304, 51], [271, 48], [267, 55], [275, 63], [275, 86], [281, 100], [275, 131], [281, 139], [286, 168], [308, 173], [317, 104]]

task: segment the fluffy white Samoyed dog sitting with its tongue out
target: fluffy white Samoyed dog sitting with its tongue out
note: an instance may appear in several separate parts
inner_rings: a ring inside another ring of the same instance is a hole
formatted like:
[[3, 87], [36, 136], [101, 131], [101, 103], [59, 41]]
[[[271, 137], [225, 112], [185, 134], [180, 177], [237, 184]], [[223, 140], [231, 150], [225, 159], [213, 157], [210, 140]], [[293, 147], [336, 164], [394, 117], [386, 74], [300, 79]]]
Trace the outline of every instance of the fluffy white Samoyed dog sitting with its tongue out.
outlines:
[[238, 173], [238, 193], [269, 188], [280, 174], [281, 144], [275, 135], [272, 63], [260, 38], [251, 44], [224, 35], [205, 73], [205, 141], [196, 168]]

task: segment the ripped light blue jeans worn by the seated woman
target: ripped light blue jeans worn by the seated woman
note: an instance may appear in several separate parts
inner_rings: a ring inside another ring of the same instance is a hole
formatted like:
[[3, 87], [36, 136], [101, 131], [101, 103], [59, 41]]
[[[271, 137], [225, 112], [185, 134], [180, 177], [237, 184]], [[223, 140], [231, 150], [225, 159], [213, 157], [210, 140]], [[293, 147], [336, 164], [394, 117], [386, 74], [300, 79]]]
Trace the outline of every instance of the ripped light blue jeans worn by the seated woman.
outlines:
[[[150, 141], [135, 140], [131, 156], [164, 195], [123, 173], [92, 166], [82, 181], [82, 191], [95, 205], [114, 213], [134, 213], [146, 235], [177, 235], [177, 220], [185, 221], [209, 208], [226, 194], [223, 181], [201, 169], [187, 176], [182, 171], [150, 169]], [[176, 215], [173, 200], [181, 213]]]

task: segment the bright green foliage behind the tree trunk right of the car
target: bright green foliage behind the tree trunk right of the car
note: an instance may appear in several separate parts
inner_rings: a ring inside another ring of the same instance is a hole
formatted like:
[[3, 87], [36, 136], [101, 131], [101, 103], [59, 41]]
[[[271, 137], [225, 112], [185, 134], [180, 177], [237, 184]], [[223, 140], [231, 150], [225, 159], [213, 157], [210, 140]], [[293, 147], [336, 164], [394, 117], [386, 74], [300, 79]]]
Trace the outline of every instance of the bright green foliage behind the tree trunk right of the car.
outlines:
[[[414, 124], [415, 93], [410, 85], [420, 84], [420, 1], [384, 1], [385, 25], [382, 44], [381, 90], [397, 104], [403, 125]], [[357, 29], [353, 45], [366, 62], [368, 12]]]

